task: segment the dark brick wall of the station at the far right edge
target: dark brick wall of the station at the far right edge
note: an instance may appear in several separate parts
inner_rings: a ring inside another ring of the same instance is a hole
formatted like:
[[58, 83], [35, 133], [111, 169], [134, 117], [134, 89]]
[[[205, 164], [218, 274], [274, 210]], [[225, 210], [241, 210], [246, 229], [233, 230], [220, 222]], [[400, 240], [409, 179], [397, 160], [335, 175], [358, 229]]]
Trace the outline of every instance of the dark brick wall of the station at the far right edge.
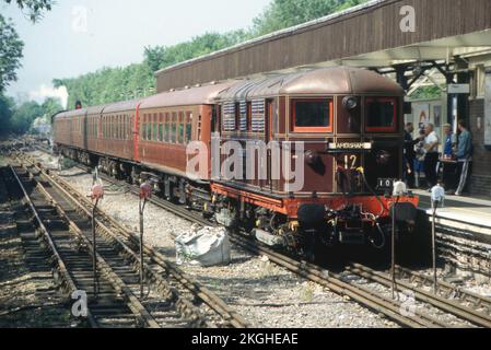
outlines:
[[[481, 129], [478, 129], [481, 118]], [[474, 137], [474, 164], [469, 190], [472, 195], [491, 197], [491, 150], [484, 148], [484, 100], [469, 102], [470, 130]]]

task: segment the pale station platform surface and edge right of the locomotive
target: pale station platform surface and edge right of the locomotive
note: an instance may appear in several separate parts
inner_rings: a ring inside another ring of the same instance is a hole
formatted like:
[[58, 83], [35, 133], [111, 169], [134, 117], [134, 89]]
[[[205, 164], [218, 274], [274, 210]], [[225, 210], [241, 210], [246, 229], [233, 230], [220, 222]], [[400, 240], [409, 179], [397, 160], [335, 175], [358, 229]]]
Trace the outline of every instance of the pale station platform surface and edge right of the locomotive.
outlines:
[[[432, 215], [431, 195], [423, 190], [413, 190], [413, 194], [420, 196], [419, 209]], [[491, 198], [447, 196], [436, 218], [439, 224], [480, 234], [491, 241]]]

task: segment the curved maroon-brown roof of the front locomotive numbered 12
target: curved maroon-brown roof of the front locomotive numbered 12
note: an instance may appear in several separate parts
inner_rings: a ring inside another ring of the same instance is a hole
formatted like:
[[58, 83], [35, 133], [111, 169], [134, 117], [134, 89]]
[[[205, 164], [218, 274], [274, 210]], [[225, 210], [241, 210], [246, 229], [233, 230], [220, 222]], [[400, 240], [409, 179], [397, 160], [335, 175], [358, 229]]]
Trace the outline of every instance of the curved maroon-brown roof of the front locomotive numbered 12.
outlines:
[[388, 94], [402, 96], [402, 88], [365, 69], [330, 67], [307, 72], [245, 80], [222, 92], [221, 101], [244, 101], [278, 95]]

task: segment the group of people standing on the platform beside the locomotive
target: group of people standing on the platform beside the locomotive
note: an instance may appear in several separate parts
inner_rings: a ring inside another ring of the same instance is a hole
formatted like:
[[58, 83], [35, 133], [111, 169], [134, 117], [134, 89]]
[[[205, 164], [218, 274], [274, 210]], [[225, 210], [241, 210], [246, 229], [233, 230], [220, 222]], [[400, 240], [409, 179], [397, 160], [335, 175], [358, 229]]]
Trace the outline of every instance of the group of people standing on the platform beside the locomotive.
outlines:
[[[413, 139], [414, 125], [406, 125], [405, 135], [405, 180], [409, 188], [426, 186], [429, 191], [443, 183], [447, 195], [461, 196], [469, 177], [472, 162], [472, 136], [464, 120], [458, 122], [458, 136], [451, 125], [444, 125], [445, 140], [440, 153], [441, 140], [434, 125], [429, 122]], [[439, 180], [443, 170], [442, 182]], [[422, 174], [425, 183], [423, 185]]]

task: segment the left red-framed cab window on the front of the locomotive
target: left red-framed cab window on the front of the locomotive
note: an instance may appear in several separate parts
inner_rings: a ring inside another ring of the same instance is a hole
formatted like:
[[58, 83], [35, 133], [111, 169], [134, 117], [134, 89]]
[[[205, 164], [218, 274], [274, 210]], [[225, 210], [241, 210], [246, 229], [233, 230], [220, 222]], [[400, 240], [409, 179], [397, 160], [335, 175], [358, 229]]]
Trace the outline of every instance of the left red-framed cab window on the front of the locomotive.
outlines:
[[292, 113], [295, 132], [332, 132], [332, 100], [294, 100]]

